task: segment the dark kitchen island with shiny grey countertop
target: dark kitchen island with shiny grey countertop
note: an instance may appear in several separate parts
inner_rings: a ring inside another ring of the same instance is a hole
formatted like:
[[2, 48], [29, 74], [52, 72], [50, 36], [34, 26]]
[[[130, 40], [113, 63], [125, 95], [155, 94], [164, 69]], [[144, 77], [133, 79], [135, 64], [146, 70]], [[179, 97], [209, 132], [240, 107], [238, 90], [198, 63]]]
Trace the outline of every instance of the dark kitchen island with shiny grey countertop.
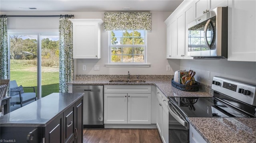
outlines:
[[0, 139], [18, 143], [82, 140], [83, 95], [52, 93], [0, 117]]

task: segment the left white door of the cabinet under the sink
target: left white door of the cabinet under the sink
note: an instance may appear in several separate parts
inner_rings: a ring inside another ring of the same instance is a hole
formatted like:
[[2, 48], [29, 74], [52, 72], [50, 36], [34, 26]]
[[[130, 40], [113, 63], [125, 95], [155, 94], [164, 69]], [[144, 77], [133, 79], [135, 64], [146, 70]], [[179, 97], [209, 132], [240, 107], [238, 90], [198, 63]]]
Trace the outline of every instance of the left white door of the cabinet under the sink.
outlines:
[[127, 123], [127, 93], [104, 93], [104, 123]]

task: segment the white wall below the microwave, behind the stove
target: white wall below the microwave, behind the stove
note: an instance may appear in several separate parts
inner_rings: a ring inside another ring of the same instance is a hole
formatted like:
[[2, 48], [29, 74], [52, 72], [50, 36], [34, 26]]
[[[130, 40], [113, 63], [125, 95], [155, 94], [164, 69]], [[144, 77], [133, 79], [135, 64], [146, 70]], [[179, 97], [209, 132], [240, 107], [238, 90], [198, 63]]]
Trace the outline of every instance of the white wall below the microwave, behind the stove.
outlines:
[[[169, 60], [171, 61], [171, 60]], [[180, 69], [196, 71], [195, 79], [212, 85], [213, 76], [222, 76], [256, 85], [256, 62], [219, 60], [180, 60]], [[210, 79], [208, 79], [210, 71]]]

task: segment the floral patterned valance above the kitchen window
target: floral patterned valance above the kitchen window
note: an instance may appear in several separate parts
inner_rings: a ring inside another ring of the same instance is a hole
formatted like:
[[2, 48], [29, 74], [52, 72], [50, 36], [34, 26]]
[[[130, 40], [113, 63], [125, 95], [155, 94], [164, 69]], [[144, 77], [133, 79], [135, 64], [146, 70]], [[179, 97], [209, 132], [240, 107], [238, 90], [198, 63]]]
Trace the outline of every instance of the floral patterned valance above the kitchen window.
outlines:
[[105, 30], [151, 30], [151, 12], [105, 12]]

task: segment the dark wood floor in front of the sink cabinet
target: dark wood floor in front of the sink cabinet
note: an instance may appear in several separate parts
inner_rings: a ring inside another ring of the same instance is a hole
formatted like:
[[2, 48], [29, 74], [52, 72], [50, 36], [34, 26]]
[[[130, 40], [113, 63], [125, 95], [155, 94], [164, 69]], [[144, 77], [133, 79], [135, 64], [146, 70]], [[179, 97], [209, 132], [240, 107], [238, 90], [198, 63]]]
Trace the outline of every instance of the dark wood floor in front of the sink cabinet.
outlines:
[[84, 143], [162, 143], [157, 129], [84, 128]]

